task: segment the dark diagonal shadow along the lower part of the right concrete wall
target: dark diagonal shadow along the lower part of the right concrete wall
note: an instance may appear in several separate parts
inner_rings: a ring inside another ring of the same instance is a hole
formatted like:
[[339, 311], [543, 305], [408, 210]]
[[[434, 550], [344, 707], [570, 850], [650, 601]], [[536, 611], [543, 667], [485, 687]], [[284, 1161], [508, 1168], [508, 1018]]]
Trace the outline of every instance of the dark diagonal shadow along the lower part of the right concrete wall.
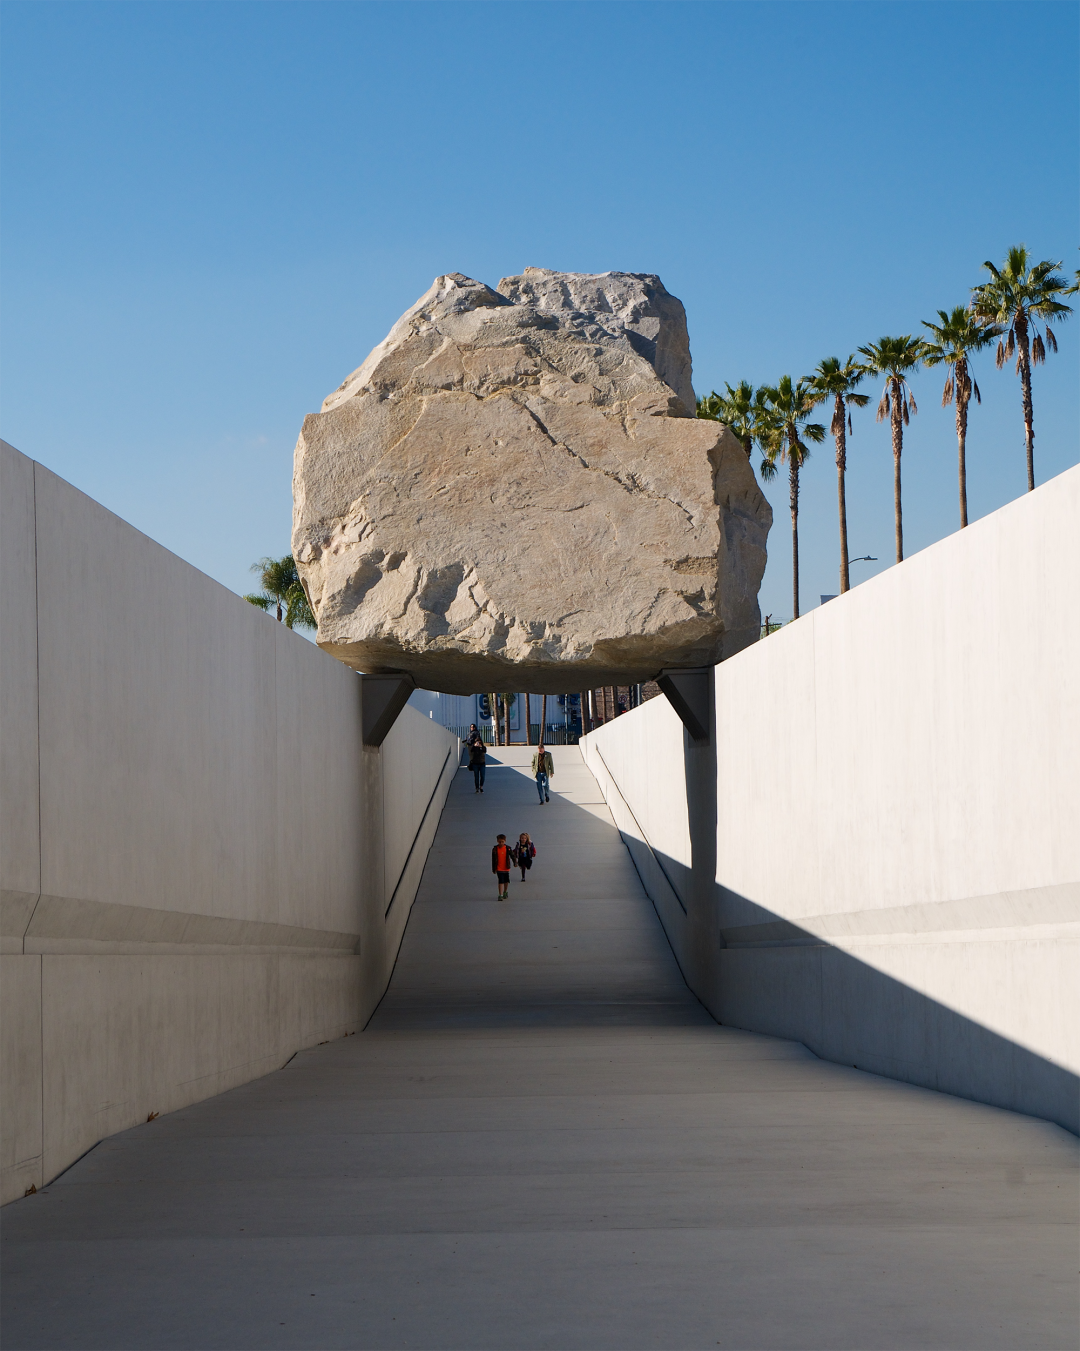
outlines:
[[[716, 1021], [1080, 1135], [1080, 1077], [718, 884], [715, 750], [684, 738], [684, 757], [691, 866], [623, 839], [687, 984]], [[684, 913], [658, 896], [658, 874]]]

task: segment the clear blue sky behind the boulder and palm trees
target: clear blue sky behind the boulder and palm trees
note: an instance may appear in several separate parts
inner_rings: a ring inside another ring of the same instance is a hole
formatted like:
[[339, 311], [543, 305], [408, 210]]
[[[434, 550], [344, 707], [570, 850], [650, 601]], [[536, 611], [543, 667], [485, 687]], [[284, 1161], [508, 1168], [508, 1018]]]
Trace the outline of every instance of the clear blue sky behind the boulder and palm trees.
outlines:
[[[699, 393], [918, 331], [1014, 242], [1072, 273], [1077, 51], [1064, 3], [9, 0], [0, 435], [246, 590], [289, 547], [304, 415], [438, 273], [660, 273]], [[1038, 481], [1080, 459], [1080, 315], [1060, 340]], [[1019, 382], [976, 374], [973, 517], [1025, 488]], [[957, 526], [941, 384], [915, 380], [908, 553]], [[873, 405], [849, 478], [864, 578], [892, 544]], [[762, 609], [788, 617], [785, 484], [769, 496]], [[835, 536], [823, 446], [804, 609], [837, 589]]]

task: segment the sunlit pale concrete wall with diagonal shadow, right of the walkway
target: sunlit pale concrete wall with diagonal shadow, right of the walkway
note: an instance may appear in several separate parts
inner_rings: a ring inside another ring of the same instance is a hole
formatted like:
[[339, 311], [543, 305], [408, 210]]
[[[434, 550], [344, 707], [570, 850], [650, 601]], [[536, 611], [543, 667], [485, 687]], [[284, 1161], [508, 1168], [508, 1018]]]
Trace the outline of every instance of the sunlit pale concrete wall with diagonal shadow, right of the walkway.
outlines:
[[1077, 578], [1073, 469], [585, 739], [722, 1023], [1080, 1132]]

